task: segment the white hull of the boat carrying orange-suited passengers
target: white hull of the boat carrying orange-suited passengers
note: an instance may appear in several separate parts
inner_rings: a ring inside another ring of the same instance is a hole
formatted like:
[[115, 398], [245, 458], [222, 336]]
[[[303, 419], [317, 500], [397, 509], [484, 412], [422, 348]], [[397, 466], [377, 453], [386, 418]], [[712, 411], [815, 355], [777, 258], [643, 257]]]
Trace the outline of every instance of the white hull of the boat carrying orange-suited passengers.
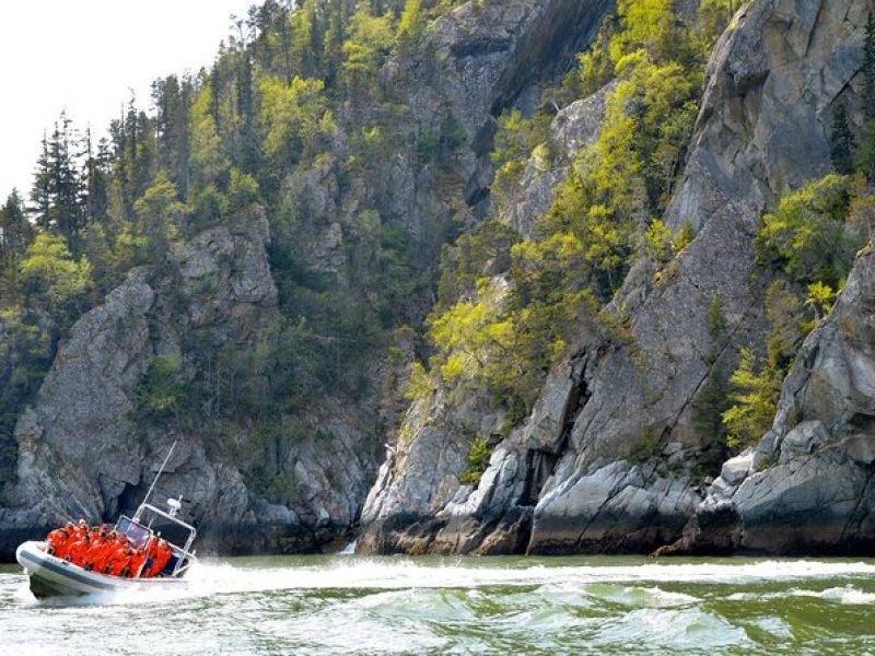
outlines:
[[165, 589], [185, 585], [182, 578], [121, 578], [89, 572], [79, 565], [46, 553], [45, 542], [24, 542], [15, 560], [27, 571], [35, 597], [79, 597], [131, 589]]

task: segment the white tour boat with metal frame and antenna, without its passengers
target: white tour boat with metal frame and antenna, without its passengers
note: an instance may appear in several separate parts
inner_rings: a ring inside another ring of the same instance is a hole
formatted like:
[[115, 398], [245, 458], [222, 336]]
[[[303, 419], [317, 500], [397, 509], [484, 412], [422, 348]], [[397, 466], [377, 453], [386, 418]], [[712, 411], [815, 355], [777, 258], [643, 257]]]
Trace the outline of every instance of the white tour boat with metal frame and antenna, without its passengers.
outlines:
[[151, 578], [126, 578], [102, 574], [56, 558], [48, 553], [47, 542], [33, 540], [18, 548], [15, 560], [26, 570], [31, 581], [31, 591], [35, 597], [78, 597], [118, 590], [167, 589], [185, 585], [184, 577], [197, 560], [196, 552], [191, 549], [197, 530], [177, 517], [182, 497], [168, 499], [166, 511], [148, 503], [175, 446], [174, 443], [133, 517], [121, 515], [115, 525], [115, 531], [126, 535], [135, 547], [144, 544], [154, 534], [161, 535], [173, 550], [173, 555], [164, 569]]

